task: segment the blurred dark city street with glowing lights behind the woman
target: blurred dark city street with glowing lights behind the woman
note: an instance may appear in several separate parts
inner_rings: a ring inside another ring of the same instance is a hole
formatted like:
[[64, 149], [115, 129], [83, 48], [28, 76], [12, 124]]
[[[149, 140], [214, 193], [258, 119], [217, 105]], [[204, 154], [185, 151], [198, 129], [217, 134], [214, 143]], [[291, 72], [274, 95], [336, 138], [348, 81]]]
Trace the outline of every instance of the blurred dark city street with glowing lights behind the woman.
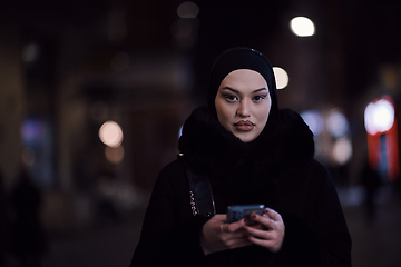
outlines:
[[149, 191], [180, 152], [184, 122], [206, 105], [214, 60], [250, 47], [272, 63], [280, 108], [314, 135], [353, 266], [401, 266], [399, 6], [2, 2], [0, 260], [36, 261], [48, 240], [43, 267], [128, 266]]

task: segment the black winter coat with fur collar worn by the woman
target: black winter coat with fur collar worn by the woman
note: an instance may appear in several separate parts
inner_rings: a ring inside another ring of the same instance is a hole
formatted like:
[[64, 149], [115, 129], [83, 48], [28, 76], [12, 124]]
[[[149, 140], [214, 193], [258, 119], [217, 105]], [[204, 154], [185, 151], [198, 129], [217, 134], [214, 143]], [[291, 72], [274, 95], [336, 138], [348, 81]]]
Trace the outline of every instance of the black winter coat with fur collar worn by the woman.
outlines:
[[280, 212], [283, 246], [276, 254], [252, 245], [205, 256], [199, 235], [208, 218], [193, 216], [185, 169], [175, 160], [156, 180], [130, 266], [351, 266], [334, 184], [313, 159], [313, 136], [297, 113], [281, 110], [274, 132], [251, 147], [197, 109], [184, 125], [179, 149], [208, 175], [217, 214], [255, 202]]

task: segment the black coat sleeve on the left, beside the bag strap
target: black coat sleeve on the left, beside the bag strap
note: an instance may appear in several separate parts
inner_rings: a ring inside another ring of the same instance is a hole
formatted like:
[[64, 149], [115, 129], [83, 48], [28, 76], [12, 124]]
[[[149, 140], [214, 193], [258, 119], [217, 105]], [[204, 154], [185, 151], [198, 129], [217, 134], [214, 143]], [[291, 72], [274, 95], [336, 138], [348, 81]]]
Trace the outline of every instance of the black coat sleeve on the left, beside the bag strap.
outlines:
[[205, 266], [199, 233], [207, 219], [192, 215], [186, 192], [185, 174], [177, 161], [165, 167], [154, 186], [131, 267], [187, 266], [194, 259]]

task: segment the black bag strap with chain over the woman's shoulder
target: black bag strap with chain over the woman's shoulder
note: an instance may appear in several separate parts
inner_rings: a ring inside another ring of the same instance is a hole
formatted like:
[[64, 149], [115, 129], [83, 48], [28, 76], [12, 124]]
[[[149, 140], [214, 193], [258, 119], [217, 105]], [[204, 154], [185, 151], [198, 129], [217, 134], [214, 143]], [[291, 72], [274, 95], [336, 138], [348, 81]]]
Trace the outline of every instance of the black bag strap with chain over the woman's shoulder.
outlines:
[[211, 181], [207, 175], [199, 168], [190, 166], [183, 154], [179, 154], [177, 158], [183, 162], [187, 175], [189, 184], [190, 205], [194, 216], [214, 216], [216, 214], [216, 208], [213, 198]]

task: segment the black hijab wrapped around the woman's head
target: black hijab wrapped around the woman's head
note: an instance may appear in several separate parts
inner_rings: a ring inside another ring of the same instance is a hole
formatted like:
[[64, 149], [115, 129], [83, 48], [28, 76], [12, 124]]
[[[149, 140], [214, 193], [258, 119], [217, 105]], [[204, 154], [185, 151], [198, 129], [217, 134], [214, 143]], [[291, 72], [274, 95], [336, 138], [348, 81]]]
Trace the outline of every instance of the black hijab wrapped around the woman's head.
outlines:
[[208, 108], [211, 110], [211, 113], [217, 118], [215, 98], [218, 91], [218, 87], [222, 83], [223, 79], [229, 72], [237, 69], [250, 69], [261, 73], [268, 86], [268, 93], [272, 99], [272, 107], [268, 115], [267, 123], [261, 132], [260, 137], [255, 139], [257, 140], [265, 137], [268, 132], [273, 130], [278, 117], [278, 100], [275, 77], [271, 63], [263, 53], [256, 51], [255, 49], [246, 47], [232, 48], [223, 52], [216, 59], [212, 68], [207, 95]]

